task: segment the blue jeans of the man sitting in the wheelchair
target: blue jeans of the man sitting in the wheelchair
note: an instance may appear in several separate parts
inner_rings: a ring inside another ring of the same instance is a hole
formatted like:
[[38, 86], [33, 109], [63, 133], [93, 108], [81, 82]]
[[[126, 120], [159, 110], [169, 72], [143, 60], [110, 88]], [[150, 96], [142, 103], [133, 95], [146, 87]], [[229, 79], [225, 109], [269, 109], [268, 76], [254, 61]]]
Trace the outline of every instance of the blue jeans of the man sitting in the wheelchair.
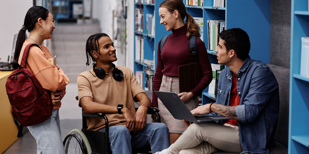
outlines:
[[[101, 129], [100, 132], [105, 132]], [[150, 123], [140, 132], [129, 132], [125, 126], [109, 127], [109, 142], [113, 154], [131, 154], [132, 148], [162, 151], [170, 146], [170, 134], [163, 123]]]

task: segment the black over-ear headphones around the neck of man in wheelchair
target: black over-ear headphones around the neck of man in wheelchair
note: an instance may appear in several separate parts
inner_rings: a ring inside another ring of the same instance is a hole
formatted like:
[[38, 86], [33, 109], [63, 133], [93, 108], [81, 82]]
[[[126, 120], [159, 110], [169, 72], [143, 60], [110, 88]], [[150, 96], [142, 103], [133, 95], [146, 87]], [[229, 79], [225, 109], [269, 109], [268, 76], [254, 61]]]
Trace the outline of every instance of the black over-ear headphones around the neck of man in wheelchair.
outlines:
[[[98, 68], [95, 68], [96, 67], [96, 63], [93, 64], [93, 71], [95, 72], [95, 75], [99, 78], [99, 79], [104, 79], [105, 77], [105, 70], [101, 67], [98, 67]], [[112, 63], [112, 67], [114, 68], [114, 71], [113, 71], [113, 78], [116, 80], [116, 81], [121, 81], [123, 79], [123, 73], [121, 70], [118, 70], [118, 68], [116, 68], [116, 65]]]

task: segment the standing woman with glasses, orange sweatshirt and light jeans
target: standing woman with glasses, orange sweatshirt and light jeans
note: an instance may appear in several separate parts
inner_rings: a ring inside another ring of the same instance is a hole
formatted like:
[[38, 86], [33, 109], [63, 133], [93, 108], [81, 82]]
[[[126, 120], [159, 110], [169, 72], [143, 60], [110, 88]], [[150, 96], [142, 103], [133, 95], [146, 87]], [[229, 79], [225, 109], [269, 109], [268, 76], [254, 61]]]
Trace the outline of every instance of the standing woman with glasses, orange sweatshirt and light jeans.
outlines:
[[[28, 126], [29, 132], [36, 139], [37, 153], [64, 154], [62, 144], [59, 108], [61, 99], [66, 93], [69, 79], [57, 65], [49, 63], [53, 58], [46, 46], [42, 45], [45, 39], [51, 39], [55, 29], [55, 20], [49, 10], [42, 6], [31, 7], [24, 19], [23, 27], [19, 30], [14, 60], [21, 64], [25, 47], [30, 43], [38, 46], [30, 47], [26, 68], [35, 75], [41, 86], [49, 90], [54, 104], [51, 117], [43, 123]], [[26, 30], [30, 32], [26, 36]]]

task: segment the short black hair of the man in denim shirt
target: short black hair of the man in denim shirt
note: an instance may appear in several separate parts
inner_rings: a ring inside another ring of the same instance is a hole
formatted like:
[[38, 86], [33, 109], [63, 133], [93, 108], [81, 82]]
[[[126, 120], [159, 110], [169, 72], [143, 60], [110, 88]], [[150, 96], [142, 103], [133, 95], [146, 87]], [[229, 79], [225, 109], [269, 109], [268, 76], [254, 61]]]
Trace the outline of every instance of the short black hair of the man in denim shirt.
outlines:
[[237, 58], [243, 61], [246, 60], [250, 51], [250, 39], [244, 30], [231, 28], [222, 31], [219, 36], [225, 41], [226, 52], [233, 49], [236, 52]]

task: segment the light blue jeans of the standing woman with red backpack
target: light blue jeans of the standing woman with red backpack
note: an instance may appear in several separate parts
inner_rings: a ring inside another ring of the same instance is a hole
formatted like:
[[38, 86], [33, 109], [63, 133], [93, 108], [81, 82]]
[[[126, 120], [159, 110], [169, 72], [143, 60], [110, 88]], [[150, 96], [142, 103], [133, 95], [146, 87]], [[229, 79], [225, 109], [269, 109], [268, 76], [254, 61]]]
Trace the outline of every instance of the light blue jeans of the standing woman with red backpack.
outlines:
[[43, 123], [28, 126], [29, 132], [36, 139], [38, 154], [65, 154], [61, 139], [59, 109]]

